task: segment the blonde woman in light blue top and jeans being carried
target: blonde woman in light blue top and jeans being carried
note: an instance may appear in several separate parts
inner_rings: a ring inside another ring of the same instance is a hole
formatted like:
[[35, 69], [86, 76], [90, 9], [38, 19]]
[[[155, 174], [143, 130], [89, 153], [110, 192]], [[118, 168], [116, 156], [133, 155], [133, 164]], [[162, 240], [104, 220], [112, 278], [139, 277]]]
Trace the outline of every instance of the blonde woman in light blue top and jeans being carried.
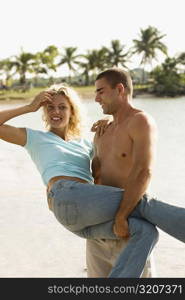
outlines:
[[[4, 124], [40, 107], [48, 131]], [[62, 225], [83, 238], [118, 239], [113, 221], [124, 191], [93, 184], [93, 146], [82, 138], [80, 113], [74, 91], [64, 85], [53, 86], [28, 105], [1, 111], [0, 138], [28, 151], [47, 186], [50, 209]], [[144, 196], [129, 217], [130, 239], [109, 277], [141, 276], [158, 239], [153, 224], [185, 241], [185, 209], [155, 199], [147, 201]]]

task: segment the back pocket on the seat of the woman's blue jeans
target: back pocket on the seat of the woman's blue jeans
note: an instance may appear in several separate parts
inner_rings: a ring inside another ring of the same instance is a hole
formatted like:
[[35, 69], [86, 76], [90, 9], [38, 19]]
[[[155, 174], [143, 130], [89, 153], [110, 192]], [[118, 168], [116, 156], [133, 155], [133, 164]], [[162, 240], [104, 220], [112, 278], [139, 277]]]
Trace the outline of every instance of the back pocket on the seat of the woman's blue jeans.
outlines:
[[55, 216], [64, 226], [75, 225], [78, 219], [76, 203], [63, 202], [55, 206]]

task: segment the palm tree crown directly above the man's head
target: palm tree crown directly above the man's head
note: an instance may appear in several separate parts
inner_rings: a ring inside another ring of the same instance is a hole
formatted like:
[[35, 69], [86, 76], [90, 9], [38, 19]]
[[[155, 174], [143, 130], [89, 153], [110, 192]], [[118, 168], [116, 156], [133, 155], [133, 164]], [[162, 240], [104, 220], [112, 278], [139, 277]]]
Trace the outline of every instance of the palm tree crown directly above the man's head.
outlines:
[[108, 61], [110, 67], [119, 67], [122, 66], [127, 69], [127, 62], [130, 52], [123, 52], [124, 45], [121, 45], [119, 40], [111, 41], [111, 48], [107, 49], [108, 51]]

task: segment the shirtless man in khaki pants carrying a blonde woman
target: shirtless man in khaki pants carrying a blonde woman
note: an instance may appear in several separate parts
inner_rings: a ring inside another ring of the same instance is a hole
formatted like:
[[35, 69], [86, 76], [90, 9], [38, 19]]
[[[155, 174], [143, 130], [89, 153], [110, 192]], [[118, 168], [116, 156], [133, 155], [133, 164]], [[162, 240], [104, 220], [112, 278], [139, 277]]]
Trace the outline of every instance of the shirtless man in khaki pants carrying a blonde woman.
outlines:
[[[124, 202], [115, 217], [114, 232], [120, 241], [87, 240], [88, 277], [107, 277], [129, 236], [127, 217], [146, 192], [155, 157], [156, 125], [151, 116], [132, 103], [132, 81], [120, 69], [100, 73], [95, 82], [96, 98], [113, 122], [103, 135], [95, 135], [93, 173], [96, 183], [123, 188]], [[96, 124], [94, 125], [94, 130]], [[123, 226], [124, 225], [124, 226]], [[143, 277], [151, 277], [148, 261]]]

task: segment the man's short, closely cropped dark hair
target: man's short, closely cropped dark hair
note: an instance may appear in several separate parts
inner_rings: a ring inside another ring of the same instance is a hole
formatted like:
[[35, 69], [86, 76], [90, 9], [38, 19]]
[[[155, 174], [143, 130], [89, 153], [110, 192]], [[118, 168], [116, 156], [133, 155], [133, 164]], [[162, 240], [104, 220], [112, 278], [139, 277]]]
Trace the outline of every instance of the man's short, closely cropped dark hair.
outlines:
[[105, 78], [112, 88], [115, 88], [118, 83], [122, 83], [127, 94], [132, 96], [132, 79], [128, 72], [119, 68], [107, 69], [98, 74], [96, 80]]

